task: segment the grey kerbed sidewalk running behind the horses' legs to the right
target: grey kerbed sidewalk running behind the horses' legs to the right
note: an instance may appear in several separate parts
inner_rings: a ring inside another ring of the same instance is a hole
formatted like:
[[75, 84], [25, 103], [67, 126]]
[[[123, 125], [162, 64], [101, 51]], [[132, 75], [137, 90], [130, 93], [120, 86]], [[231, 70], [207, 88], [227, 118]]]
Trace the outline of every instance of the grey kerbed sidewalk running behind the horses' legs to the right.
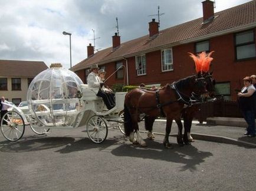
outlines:
[[[160, 123], [157, 125], [159, 127], [155, 128], [154, 126], [153, 132], [165, 135], [165, 120], [158, 119], [157, 123]], [[142, 125], [144, 125], [144, 123]], [[178, 126], [173, 121], [171, 136], [176, 136], [177, 132]], [[206, 140], [256, 148], [256, 138], [248, 138], [244, 135], [244, 132], [245, 128], [239, 126], [210, 125], [206, 124], [206, 122], [200, 124], [197, 121], [193, 121], [191, 128], [191, 135], [195, 140]]]

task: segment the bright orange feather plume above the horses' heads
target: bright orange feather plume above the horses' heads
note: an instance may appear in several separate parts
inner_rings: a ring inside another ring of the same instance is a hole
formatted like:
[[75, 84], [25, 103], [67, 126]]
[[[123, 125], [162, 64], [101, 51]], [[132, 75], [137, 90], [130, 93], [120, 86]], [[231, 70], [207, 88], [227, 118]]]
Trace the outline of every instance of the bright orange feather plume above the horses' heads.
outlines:
[[210, 69], [210, 65], [211, 62], [213, 60], [213, 58], [211, 58], [212, 53], [214, 53], [214, 51], [210, 52], [210, 53], [205, 53], [205, 52], [201, 52], [198, 53], [197, 56], [195, 56], [193, 53], [189, 53], [189, 56], [191, 56], [191, 58], [193, 59], [193, 61], [195, 62], [195, 66], [196, 66], [196, 72], [209, 72]]

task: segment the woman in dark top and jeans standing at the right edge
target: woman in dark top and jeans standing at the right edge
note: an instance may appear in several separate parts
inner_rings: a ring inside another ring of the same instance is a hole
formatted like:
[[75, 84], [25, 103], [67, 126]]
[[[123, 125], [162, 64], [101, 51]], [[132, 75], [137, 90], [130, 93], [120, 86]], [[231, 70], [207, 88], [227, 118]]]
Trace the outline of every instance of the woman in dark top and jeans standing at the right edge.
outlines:
[[254, 92], [255, 88], [252, 85], [252, 79], [246, 76], [244, 79], [244, 87], [241, 92], [238, 93], [239, 109], [242, 111], [245, 121], [248, 124], [247, 132], [244, 135], [248, 137], [255, 137], [255, 120], [254, 120]]

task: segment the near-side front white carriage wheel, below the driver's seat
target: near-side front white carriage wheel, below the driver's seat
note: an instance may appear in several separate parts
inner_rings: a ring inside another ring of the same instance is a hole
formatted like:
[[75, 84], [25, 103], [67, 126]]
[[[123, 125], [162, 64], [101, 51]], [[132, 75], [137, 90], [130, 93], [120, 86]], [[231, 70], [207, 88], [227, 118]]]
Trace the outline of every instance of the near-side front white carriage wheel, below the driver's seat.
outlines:
[[87, 122], [88, 137], [94, 143], [102, 143], [107, 138], [107, 123], [100, 116], [92, 116]]

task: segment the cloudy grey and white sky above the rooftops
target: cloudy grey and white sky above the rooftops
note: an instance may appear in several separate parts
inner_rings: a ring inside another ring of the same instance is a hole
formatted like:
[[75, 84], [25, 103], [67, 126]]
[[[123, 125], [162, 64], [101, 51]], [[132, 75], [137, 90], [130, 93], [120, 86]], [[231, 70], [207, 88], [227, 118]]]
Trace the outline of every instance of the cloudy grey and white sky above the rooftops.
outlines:
[[[160, 30], [202, 17], [204, 0], [0, 0], [0, 59], [62, 63], [70, 68], [96, 51], [112, 46], [118, 18], [121, 43], [149, 34], [149, 22]], [[251, 0], [215, 0], [215, 12]], [[149, 16], [155, 15], [155, 16]], [[94, 33], [93, 33], [94, 31]]]

